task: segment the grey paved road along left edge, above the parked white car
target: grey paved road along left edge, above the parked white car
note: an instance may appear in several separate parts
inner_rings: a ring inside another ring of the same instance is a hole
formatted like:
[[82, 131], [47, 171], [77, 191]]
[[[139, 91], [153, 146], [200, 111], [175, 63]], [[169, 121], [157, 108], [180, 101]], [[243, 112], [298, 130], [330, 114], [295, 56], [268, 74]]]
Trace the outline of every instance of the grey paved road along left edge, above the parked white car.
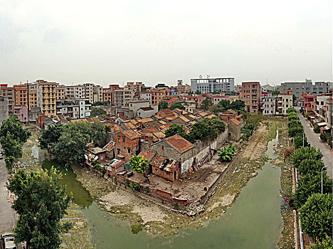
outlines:
[[14, 227], [14, 213], [11, 209], [11, 203], [7, 200], [7, 177], [4, 159], [0, 159], [0, 233], [11, 231]]

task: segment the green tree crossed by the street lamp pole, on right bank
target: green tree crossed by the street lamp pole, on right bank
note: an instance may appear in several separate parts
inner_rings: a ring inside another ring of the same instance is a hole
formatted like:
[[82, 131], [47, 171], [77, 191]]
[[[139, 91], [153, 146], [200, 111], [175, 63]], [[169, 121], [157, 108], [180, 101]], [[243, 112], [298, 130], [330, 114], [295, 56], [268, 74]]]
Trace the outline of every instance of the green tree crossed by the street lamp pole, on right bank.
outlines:
[[[324, 172], [325, 173], [325, 172]], [[322, 177], [319, 174], [305, 174], [300, 176], [300, 181], [292, 197], [295, 203], [295, 208], [299, 209], [305, 204], [307, 198], [312, 194], [321, 193], [322, 191]], [[332, 192], [332, 179], [329, 179], [327, 174], [323, 174], [323, 191], [324, 194]]]

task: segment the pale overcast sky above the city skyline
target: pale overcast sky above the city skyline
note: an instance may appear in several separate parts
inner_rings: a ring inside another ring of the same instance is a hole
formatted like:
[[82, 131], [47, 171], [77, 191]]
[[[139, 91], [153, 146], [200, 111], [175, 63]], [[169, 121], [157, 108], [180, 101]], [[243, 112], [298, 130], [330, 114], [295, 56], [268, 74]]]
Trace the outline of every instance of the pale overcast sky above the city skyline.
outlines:
[[332, 82], [332, 0], [0, 0], [0, 83]]

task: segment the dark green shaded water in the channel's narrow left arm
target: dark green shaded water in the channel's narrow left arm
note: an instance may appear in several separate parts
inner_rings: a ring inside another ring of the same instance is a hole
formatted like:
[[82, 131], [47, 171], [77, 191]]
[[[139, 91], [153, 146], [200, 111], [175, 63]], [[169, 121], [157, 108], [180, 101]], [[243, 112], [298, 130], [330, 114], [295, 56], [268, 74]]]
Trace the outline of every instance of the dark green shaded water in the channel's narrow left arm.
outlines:
[[73, 194], [72, 201], [84, 208], [88, 208], [91, 203], [93, 203], [93, 198], [90, 196], [89, 191], [82, 186], [80, 181], [75, 179], [76, 174], [73, 172], [73, 169], [58, 164], [58, 162], [54, 160], [43, 162], [43, 169], [51, 169], [52, 166], [63, 174], [63, 179], [60, 180], [60, 184], [66, 186], [68, 194]]

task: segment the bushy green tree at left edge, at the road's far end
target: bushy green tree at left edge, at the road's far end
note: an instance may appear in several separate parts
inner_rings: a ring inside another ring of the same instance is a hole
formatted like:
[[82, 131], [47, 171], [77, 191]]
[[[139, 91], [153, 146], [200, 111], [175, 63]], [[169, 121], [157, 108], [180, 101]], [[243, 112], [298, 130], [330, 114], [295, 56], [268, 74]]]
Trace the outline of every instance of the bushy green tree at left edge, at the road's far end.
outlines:
[[10, 115], [9, 118], [4, 120], [1, 124], [0, 137], [6, 137], [7, 132], [10, 132], [19, 143], [25, 143], [31, 136], [31, 132], [23, 129], [21, 120], [19, 120], [15, 114]]

